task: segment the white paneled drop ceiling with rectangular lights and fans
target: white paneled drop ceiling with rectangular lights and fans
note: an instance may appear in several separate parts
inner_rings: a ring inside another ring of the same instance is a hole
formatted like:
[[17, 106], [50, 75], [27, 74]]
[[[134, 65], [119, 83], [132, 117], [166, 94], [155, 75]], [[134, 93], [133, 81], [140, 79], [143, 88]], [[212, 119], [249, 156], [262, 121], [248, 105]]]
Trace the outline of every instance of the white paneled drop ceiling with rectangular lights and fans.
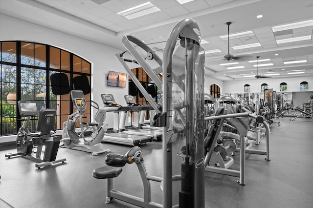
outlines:
[[[183, 18], [193, 18], [201, 29], [201, 46], [206, 50], [205, 73], [209, 76], [220, 80], [255, 79], [249, 75], [256, 75], [256, 62], [251, 62], [256, 61], [256, 56], [260, 56], [260, 75], [313, 76], [312, 0], [194, 0], [183, 4], [177, 0], [150, 0], [157, 7], [154, 13], [131, 20], [117, 14], [147, 2], [0, 0], [0, 12], [121, 51], [125, 33], [153, 43], [156, 50], [163, 49], [173, 26]], [[151, 4], [149, 8], [145, 5], [147, 9], [153, 10]], [[258, 15], [263, 17], [257, 18]], [[228, 53], [227, 21], [232, 22], [230, 34], [235, 35], [230, 38], [229, 53], [243, 57], [229, 62], [224, 59]], [[302, 25], [294, 26], [296, 22]], [[281, 26], [286, 24], [294, 28]], [[236, 36], [238, 33], [241, 34]]]

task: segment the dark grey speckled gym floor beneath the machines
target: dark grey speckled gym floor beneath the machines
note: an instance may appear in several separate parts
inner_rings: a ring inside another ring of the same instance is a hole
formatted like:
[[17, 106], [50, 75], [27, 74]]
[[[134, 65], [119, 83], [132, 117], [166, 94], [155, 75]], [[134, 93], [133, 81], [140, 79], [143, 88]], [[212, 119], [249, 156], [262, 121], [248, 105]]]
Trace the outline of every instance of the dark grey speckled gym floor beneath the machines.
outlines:
[[[313, 119], [279, 118], [272, 124], [270, 159], [246, 154], [246, 186], [238, 178], [205, 172], [206, 208], [312, 208], [313, 207]], [[265, 150], [265, 137], [259, 149]], [[112, 152], [125, 154], [130, 146], [104, 144]], [[162, 176], [162, 144], [141, 146], [148, 173]], [[37, 169], [35, 162], [24, 158], [6, 159], [0, 151], [0, 207], [14, 208], [133, 208], [113, 200], [105, 204], [106, 180], [92, 177], [92, 170], [104, 166], [106, 154], [60, 148], [58, 158], [66, 164]], [[232, 169], [239, 169], [236, 153]], [[159, 183], [152, 182], [152, 199], [161, 203]], [[142, 197], [142, 183], [137, 167], [126, 165], [113, 180], [117, 190]]]

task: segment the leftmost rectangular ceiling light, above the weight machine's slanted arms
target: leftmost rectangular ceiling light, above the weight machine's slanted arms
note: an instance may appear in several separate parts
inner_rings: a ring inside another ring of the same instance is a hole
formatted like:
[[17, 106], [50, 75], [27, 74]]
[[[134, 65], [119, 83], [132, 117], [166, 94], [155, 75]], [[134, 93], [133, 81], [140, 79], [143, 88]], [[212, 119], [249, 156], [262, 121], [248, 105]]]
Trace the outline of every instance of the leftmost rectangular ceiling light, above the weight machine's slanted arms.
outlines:
[[116, 14], [128, 19], [132, 20], [134, 18], [138, 18], [141, 16], [145, 16], [157, 11], [161, 11], [158, 7], [156, 7], [154, 4], [152, 4], [150, 1], [134, 6], [132, 8], [126, 9], [121, 12], [117, 12]]

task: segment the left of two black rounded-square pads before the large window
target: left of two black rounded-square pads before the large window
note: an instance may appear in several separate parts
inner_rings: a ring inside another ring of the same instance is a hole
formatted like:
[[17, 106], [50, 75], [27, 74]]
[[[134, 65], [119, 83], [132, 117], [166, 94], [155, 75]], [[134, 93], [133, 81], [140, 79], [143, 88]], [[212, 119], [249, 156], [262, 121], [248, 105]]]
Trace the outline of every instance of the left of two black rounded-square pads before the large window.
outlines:
[[66, 95], [70, 92], [68, 77], [64, 73], [51, 74], [50, 83], [54, 95]]

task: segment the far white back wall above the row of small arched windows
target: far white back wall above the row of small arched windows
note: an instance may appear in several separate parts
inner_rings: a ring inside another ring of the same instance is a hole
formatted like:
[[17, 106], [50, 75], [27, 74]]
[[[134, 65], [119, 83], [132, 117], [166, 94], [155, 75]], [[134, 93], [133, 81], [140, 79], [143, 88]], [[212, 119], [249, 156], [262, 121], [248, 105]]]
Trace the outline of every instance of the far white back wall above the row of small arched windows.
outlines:
[[224, 93], [244, 92], [244, 85], [250, 85], [250, 92], [261, 92], [261, 84], [267, 83], [268, 88], [279, 92], [279, 84], [287, 83], [287, 91], [300, 91], [300, 83], [309, 83], [309, 91], [313, 91], [313, 76], [293, 77], [293, 78], [260, 78], [253, 80], [224, 81]]

